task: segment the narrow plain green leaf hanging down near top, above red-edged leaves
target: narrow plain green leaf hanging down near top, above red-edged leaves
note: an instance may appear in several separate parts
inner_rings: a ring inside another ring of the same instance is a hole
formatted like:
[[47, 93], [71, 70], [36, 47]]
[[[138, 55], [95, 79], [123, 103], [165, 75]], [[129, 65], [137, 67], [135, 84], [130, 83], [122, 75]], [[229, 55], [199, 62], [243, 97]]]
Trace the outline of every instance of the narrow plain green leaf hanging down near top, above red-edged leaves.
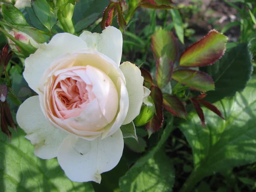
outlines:
[[174, 28], [176, 31], [176, 34], [181, 41], [182, 44], [184, 44], [184, 29], [183, 29], [183, 21], [180, 16], [180, 12], [177, 9], [171, 9], [170, 10], [172, 15], [172, 20], [174, 22]]

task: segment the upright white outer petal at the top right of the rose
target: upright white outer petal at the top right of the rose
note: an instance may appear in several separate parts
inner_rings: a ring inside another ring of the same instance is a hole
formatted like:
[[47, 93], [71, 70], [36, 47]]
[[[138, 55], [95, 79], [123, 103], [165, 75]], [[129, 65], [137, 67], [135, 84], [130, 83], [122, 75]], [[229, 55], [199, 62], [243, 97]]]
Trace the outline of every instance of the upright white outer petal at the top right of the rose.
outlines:
[[95, 49], [111, 58], [119, 66], [122, 57], [122, 33], [113, 26], [108, 26], [102, 34], [83, 32], [80, 36], [91, 49]]

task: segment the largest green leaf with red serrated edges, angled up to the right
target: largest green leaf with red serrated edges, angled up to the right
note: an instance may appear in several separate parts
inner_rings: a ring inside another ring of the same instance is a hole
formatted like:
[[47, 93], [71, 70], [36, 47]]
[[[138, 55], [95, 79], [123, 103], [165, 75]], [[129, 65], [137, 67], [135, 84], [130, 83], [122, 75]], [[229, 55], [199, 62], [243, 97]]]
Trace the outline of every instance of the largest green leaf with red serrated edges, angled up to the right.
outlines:
[[200, 41], [192, 44], [180, 56], [181, 67], [202, 67], [215, 63], [222, 57], [228, 38], [211, 30]]

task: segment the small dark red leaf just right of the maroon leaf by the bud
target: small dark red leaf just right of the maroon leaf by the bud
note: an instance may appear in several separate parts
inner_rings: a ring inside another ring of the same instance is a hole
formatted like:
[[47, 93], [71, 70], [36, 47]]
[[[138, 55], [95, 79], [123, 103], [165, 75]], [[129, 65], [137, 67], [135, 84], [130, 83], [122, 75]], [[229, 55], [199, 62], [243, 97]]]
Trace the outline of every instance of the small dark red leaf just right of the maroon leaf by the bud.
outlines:
[[186, 108], [183, 102], [177, 96], [164, 95], [163, 107], [172, 113], [174, 116], [178, 116], [186, 119]]

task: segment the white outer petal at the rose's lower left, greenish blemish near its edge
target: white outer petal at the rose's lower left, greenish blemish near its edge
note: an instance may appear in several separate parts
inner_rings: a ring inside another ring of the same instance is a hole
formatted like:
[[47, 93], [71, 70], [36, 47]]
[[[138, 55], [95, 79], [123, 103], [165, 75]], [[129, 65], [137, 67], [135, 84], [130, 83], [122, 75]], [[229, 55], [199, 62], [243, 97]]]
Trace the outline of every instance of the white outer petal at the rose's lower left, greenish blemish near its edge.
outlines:
[[39, 97], [27, 99], [17, 111], [17, 123], [27, 133], [26, 138], [35, 145], [35, 155], [42, 159], [57, 157], [58, 148], [67, 133], [47, 122], [41, 111]]

